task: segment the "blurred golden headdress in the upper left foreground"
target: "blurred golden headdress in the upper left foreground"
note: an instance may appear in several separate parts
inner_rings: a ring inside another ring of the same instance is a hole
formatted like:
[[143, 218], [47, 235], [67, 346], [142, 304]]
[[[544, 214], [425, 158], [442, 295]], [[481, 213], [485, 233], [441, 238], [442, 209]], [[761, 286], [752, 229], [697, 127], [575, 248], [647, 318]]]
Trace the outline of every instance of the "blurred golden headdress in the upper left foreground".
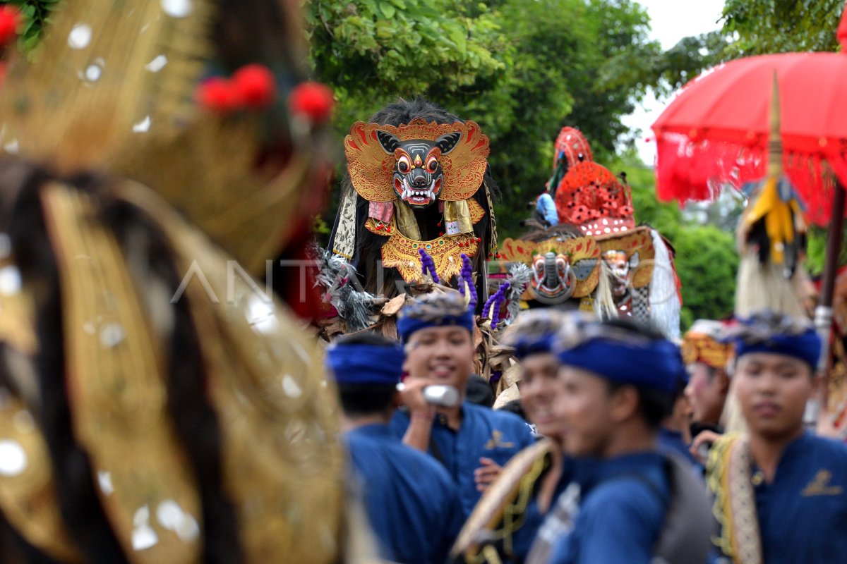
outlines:
[[195, 102], [204, 74], [219, 68], [215, 11], [209, 0], [66, 3], [34, 61], [9, 69], [3, 146], [59, 173], [144, 183], [242, 266], [263, 271], [302, 212], [292, 198], [313, 162], [295, 149], [282, 172], [273, 160], [257, 167], [263, 146], [285, 141], [267, 139], [268, 121], [285, 119], [284, 100], [261, 118]]

